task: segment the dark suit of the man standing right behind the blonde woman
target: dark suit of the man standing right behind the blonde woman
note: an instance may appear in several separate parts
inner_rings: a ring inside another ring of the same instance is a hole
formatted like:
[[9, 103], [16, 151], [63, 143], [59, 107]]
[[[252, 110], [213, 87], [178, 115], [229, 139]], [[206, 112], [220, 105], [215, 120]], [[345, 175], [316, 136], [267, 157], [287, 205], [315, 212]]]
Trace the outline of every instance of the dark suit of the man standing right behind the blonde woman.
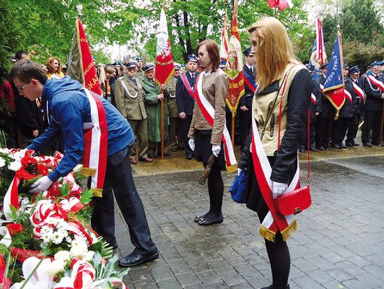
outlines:
[[[253, 65], [252, 70], [244, 65], [244, 71], [247, 72], [253, 79], [256, 77], [256, 67]], [[253, 92], [247, 84], [244, 83], [244, 95], [240, 98], [239, 101], [239, 123], [240, 123], [240, 148], [244, 148], [245, 141], [247, 140], [247, 133], [249, 133], [251, 128], [251, 118], [252, 118], [252, 100]], [[247, 111], [241, 111], [240, 107], [245, 105]]]

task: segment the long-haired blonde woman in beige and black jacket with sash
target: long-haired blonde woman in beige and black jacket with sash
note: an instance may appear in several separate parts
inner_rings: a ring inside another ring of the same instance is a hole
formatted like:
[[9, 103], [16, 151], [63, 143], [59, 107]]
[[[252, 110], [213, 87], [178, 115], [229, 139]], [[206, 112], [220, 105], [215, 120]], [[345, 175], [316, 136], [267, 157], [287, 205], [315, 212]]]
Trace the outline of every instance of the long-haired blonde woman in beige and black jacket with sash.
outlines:
[[274, 199], [298, 182], [297, 149], [313, 84], [309, 71], [294, 57], [287, 32], [276, 18], [262, 18], [248, 32], [258, 89], [252, 104], [253, 131], [238, 167], [249, 172], [245, 201], [262, 223], [260, 234], [270, 259], [273, 283], [263, 289], [286, 289], [290, 268], [286, 240], [296, 228], [296, 220], [293, 215], [279, 214]]

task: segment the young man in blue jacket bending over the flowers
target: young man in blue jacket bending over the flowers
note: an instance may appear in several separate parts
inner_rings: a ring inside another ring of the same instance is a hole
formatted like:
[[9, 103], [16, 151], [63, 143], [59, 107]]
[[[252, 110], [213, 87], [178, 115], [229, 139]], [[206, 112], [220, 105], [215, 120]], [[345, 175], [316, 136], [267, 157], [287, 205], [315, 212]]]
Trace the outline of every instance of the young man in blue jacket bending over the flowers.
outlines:
[[[16, 62], [11, 70], [11, 79], [18, 92], [32, 102], [41, 97], [41, 107], [49, 118], [46, 131], [36, 138], [29, 149], [41, 151], [63, 133], [65, 154], [59, 165], [49, 175], [36, 181], [32, 193], [47, 190], [60, 177], [68, 175], [82, 160], [85, 150], [83, 130], [92, 127], [90, 100], [79, 82], [65, 77], [48, 80], [46, 73], [31, 60]], [[129, 149], [134, 143], [134, 134], [128, 122], [107, 100], [98, 97], [105, 110], [107, 121], [107, 170], [102, 197], [94, 197], [92, 228], [114, 248], [114, 201], [112, 190], [122, 211], [134, 251], [122, 258], [121, 266], [136, 266], [159, 257], [156, 245], [151, 240], [142, 200], [134, 186]]]

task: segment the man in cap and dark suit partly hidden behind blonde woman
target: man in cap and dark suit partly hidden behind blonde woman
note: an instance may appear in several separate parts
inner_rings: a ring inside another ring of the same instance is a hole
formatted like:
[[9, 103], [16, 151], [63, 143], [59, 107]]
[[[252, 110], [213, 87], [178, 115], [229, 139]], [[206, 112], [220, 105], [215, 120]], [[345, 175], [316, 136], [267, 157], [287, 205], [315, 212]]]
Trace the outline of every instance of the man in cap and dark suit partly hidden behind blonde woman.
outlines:
[[240, 134], [240, 150], [244, 148], [247, 134], [250, 132], [252, 118], [252, 100], [255, 94], [255, 55], [251, 53], [251, 48], [244, 52], [245, 65], [244, 73], [244, 95], [239, 100], [239, 134]]

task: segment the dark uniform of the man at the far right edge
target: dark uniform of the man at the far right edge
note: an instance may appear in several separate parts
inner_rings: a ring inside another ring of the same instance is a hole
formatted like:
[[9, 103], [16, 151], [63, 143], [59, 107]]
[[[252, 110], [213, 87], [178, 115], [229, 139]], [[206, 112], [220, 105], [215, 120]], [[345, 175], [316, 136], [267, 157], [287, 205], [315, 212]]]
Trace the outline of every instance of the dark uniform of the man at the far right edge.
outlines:
[[[384, 82], [383, 75], [374, 76], [376, 80]], [[363, 143], [369, 141], [370, 130], [373, 130], [372, 133], [372, 143], [379, 144], [379, 131], [381, 125], [381, 114], [383, 113], [383, 99], [381, 99], [380, 88], [376, 87], [374, 84], [371, 84], [366, 77], [363, 81], [364, 91], [366, 92], [366, 104], [364, 107], [364, 126], [363, 126]]]

